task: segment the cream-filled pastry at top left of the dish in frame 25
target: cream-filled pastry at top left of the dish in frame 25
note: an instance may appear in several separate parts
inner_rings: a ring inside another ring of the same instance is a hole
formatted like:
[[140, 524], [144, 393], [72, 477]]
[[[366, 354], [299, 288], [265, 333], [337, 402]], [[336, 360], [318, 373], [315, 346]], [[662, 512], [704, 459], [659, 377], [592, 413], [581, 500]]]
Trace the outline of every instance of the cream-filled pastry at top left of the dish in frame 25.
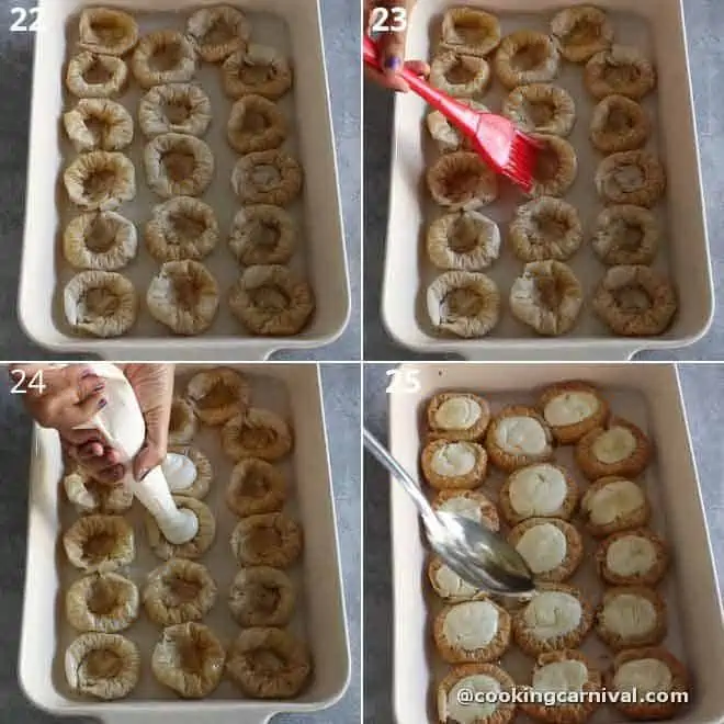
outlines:
[[479, 440], [490, 422], [490, 406], [473, 393], [438, 393], [427, 408], [431, 439]]

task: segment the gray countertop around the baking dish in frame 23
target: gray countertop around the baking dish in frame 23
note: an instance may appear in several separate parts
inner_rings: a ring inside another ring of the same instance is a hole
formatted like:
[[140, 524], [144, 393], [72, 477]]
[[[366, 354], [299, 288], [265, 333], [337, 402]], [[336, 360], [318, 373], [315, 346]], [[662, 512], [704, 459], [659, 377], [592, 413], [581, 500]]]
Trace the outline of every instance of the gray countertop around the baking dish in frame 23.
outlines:
[[[706, 199], [706, 220], [716, 298], [724, 298], [724, 3], [721, 0], [687, 0], [691, 76], [697, 108], [702, 177]], [[364, 359], [419, 360], [457, 359], [454, 355], [421, 355], [397, 344], [380, 318], [384, 246], [389, 190], [389, 151], [393, 95], [372, 83], [364, 83]], [[411, 258], [415, 258], [415, 251]], [[724, 359], [724, 305], [720, 305], [709, 335], [681, 350], [646, 352], [648, 360]]]

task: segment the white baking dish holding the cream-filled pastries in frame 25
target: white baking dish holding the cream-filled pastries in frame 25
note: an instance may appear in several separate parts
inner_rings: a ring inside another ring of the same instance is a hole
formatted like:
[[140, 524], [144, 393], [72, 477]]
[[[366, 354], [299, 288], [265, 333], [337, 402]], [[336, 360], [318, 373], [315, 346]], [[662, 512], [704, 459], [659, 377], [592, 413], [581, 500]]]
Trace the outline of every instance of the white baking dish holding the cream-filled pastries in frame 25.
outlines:
[[[412, 365], [403, 367], [401, 374], [410, 369]], [[689, 724], [723, 721], [720, 661], [724, 656], [724, 614], [676, 367], [667, 364], [434, 364], [415, 369], [419, 391], [394, 391], [389, 397], [389, 449], [410, 471], [416, 471], [418, 465], [425, 403], [432, 394], [444, 389], [478, 392], [497, 410], [512, 399], [521, 404], [532, 401], [536, 389], [553, 382], [586, 380], [601, 387], [615, 414], [631, 419], [647, 432], [654, 440], [656, 454], [640, 482], [652, 502], [652, 528], [669, 541], [672, 554], [671, 570], [660, 586], [669, 606], [669, 634], [665, 645], [687, 663], [693, 687], [692, 701], [676, 721]], [[565, 454], [569, 453], [568, 450]], [[557, 453], [558, 459], [575, 473], [567, 457], [559, 457]], [[486, 490], [497, 490], [495, 480], [501, 482], [502, 476], [496, 473], [488, 479]], [[432, 600], [434, 597], [427, 586], [427, 548], [417, 510], [400, 486], [393, 485], [391, 495], [394, 709], [399, 724], [418, 724], [437, 721], [431, 691], [442, 669], [429, 642], [430, 613], [437, 610], [439, 601]], [[590, 555], [590, 545], [586, 554]], [[589, 592], [592, 586], [592, 580], [586, 578], [589, 573], [584, 572], [582, 580], [579, 575], [577, 573], [570, 582]], [[592, 599], [596, 601], [597, 596], [592, 595]], [[606, 652], [595, 634], [588, 636], [582, 651], [599, 661], [598, 655]], [[525, 659], [520, 652], [504, 657], [504, 666], [518, 683], [529, 682], [525, 677], [531, 665], [532, 659]], [[528, 669], [521, 668], [523, 666]], [[624, 720], [606, 706], [595, 721], [619, 724]]]

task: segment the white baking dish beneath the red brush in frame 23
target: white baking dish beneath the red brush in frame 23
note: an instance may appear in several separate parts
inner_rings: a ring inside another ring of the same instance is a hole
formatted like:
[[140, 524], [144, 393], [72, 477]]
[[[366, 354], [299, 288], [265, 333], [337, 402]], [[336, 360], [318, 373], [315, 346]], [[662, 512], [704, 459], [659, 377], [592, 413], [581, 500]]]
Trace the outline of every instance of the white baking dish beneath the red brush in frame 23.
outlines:
[[[508, 33], [521, 27], [545, 31], [557, 10], [580, 2], [419, 0], [409, 25], [407, 56], [431, 57], [443, 12], [460, 4], [483, 7], [498, 14], [502, 32]], [[709, 329], [714, 298], [682, 2], [601, 0], [595, 4], [611, 13], [616, 42], [641, 46], [655, 59], [658, 70], [658, 90], [646, 99], [644, 105], [658, 121], [654, 123], [652, 143], [663, 157], [668, 172], [666, 215], [660, 219], [666, 229], [663, 247], [668, 249], [668, 253], [659, 252], [657, 261], [663, 271], [672, 275], [679, 289], [679, 314], [674, 326], [661, 337], [626, 339], [613, 337], [593, 316], [590, 295], [604, 272], [603, 264], [595, 259], [590, 249], [592, 223], [602, 208], [600, 202], [596, 206], [591, 203], [596, 196], [593, 173], [600, 157], [593, 152], [587, 138], [592, 104], [582, 88], [582, 73], [579, 68], [566, 64], [561, 73], [561, 84], [572, 92], [577, 104], [577, 123], [572, 139], [579, 160], [578, 179], [566, 200], [579, 210], [586, 231], [581, 249], [569, 262], [587, 297], [576, 328], [565, 337], [541, 338], [516, 320], [508, 308], [510, 287], [523, 263], [514, 259], [507, 248], [505, 224], [512, 217], [514, 206], [523, 203], [524, 199], [506, 183], [500, 200], [482, 210], [496, 222], [504, 223], [501, 257], [486, 271], [497, 282], [502, 296], [500, 323], [484, 339], [464, 340], [434, 333], [425, 299], [425, 290], [435, 275], [425, 251], [427, 223], [434, 214], [432, 202], [427, 201], [423, 179], [426, 163], [434, 155], [423, 127], [427, 113], [425, 102], [414, 93], [399, 93], [395, 101], [381, 314], [387, 331], [400, 344], [420, 352], [456, 352], [466, 359], [624, 360], [643, 349], [690, 344]], [[495, 82], [493, 90], [480, 100], [497, 111], [502, 97], [499, 82]], [[672, 118], [676, 123], [671, 123]]]

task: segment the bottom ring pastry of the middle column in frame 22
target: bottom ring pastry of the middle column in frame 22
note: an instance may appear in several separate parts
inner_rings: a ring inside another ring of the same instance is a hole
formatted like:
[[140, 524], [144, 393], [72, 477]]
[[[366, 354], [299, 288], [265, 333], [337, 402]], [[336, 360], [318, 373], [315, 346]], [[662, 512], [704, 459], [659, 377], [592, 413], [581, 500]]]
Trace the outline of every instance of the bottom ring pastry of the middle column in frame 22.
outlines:
[[206, 331], [218, 310], [218, 284], [197, 261], [167, 261], [146, 293], [151, 316], [177, 335]]

